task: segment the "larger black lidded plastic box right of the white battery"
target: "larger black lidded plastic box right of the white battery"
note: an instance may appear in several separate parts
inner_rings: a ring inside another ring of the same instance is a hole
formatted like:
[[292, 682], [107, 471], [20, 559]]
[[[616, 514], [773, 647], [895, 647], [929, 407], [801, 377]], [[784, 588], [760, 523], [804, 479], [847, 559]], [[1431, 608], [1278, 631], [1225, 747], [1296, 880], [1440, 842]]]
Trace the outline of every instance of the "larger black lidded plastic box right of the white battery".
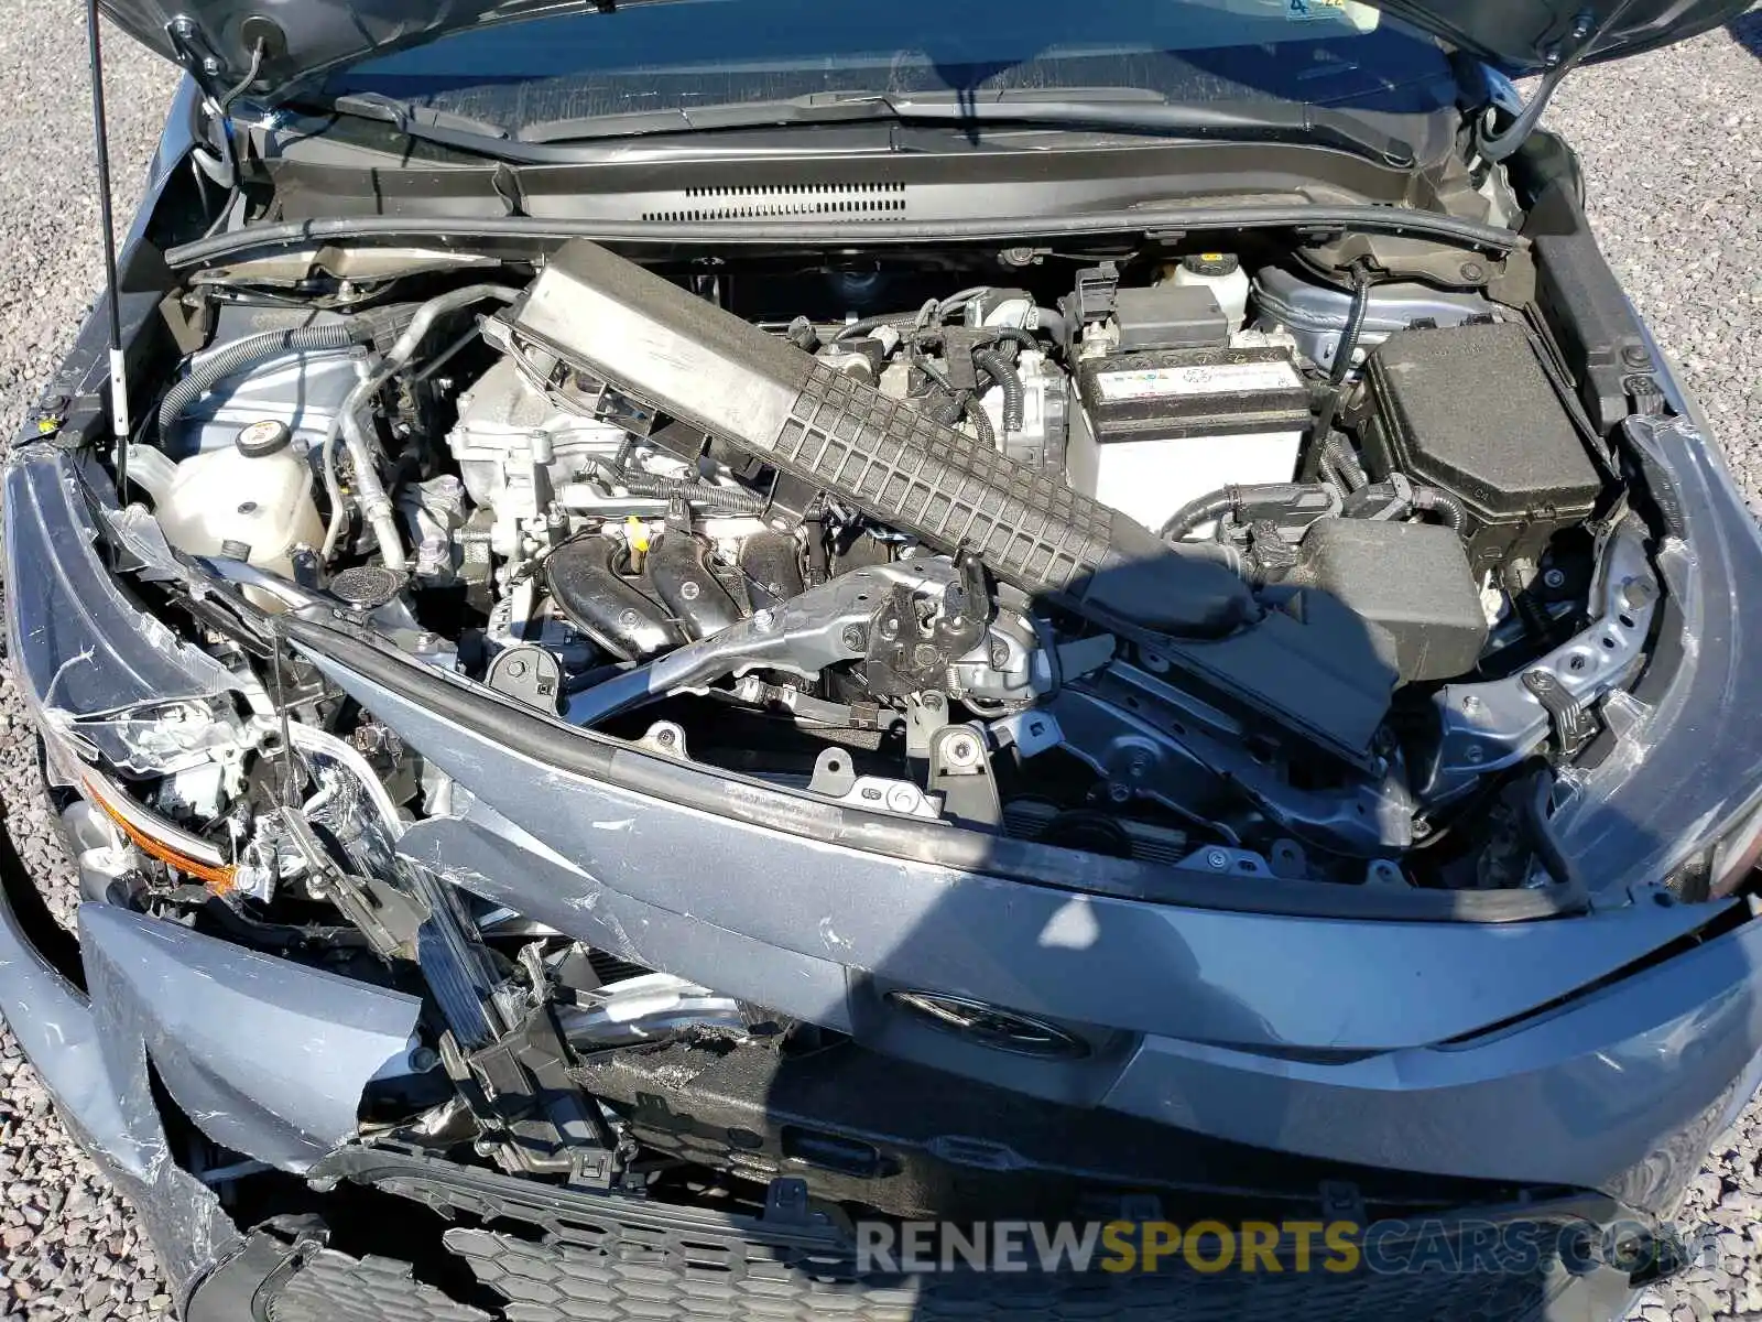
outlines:
[[1399, 471], [1470, 513], [1473, 569], [1533, 559], [1582, 524], [1603, 479], [1517, 323], [1404, 330], [1364, 365], [1371, 474]]

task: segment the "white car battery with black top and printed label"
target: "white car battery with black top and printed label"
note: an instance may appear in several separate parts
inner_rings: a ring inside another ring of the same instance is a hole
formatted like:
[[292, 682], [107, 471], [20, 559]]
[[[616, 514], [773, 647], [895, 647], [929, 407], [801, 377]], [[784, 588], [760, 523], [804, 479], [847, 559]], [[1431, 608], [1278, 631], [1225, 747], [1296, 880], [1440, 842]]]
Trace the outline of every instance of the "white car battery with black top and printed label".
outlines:
[[1202, 495], [1290, 481], [1309, 390], [1277, 347], [1159, 349], [1077, 368], [1066, 476], [1152, 531]]

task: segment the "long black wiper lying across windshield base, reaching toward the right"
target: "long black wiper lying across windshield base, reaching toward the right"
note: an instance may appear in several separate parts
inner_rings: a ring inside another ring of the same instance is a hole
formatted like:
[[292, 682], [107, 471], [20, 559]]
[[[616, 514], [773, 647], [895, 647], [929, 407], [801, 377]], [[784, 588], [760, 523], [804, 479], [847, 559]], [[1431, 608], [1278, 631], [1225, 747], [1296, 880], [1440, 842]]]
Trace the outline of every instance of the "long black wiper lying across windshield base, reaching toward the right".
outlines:
[[1138, 88], [988, 92], [980, 99], [964, 93], [839, 92], [788, 100], [633, 111], [527, 125], [507, 150], [515, 157], [527, 148], [557, 148], [611, 137], [862, 120], [955, 127], [1094, 129], [1235, 141], [1311, 141], [1390, 166], [1404, 167], [1415, 160], [1408, 143], [1348, 111], [1283, 100], [1179, 104]]

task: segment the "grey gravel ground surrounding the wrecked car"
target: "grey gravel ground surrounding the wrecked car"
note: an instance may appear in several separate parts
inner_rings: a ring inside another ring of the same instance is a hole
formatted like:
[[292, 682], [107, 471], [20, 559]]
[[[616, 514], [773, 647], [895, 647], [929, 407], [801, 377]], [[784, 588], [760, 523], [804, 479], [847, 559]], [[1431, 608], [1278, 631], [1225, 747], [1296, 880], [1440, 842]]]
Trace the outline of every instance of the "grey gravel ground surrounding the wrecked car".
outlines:
[[[7, 5], [0, 71], [0, 434], [67, 349], [97, 282], [86, 187], [90, 106], [69, 0]], [[46, 51], [63, 58], [48, 60]], [[118, 213], [174, 86], [122, 37], [107, 60]], [[1663, 347], [1683, 365], [1751, 499], [1762, 488], [1762, 11], [1639, 60], [1581, 71], [1549, 116], [1584, 155], [1603, 245]], [[1644, 153], [1639, 145], [1667, 143]], [[32, 744], [0, 677], [0, 809], [25, 862], [65, 904], [69, 865], [30, 774]], [[1725, 1135], [1684, 1223], [1713, 1223], [1716, 1266], [1642, 1296], [1635, 1317], [1762, 1318], [1762, 1103]], [[0, 1028], [0, 1311], [5, 1318], [150, 1318], [169, 1299], [134, 1218], [63, 1135]]]

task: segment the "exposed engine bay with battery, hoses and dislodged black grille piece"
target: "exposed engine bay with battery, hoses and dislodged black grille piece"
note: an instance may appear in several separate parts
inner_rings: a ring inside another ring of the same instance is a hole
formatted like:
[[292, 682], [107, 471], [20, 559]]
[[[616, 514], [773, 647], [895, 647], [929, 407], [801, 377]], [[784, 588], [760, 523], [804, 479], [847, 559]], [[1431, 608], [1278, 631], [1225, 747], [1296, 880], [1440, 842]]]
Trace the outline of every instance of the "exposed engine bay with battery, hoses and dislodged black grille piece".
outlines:
[[[1658, 598], [1610, 451], [1485, 279], [1237, 247], [245, 264], [185, 291], [204, 347], [129, 479], [263, 619], [657, 756], [1244, 885], [1545, 885], [1524, 816]], [[201, 592], [152, 590], [264, 677]], [[289, 723], [403, 818], [451, 804], [308, 665], [271, 670], [271, 710], [227, 717], [243, 756], [134, 786], [261, 901], [312, 867], [257, 825]]]

